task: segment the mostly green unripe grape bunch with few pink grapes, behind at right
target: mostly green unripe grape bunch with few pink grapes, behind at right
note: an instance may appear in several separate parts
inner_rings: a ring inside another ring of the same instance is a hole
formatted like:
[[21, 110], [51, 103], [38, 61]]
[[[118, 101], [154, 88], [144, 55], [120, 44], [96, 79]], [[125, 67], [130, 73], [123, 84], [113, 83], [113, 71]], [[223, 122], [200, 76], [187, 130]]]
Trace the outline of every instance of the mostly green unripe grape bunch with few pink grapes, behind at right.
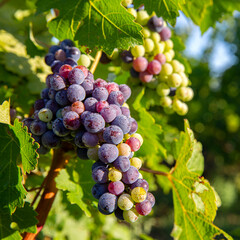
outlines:
[[171, 30], [161, 17], [154, 14], [149, 16], [143, 8], [136, 11], [132, 5], [127, 5], [131, 3], [122, 2], [134, 15], [135, 21], [143, 26], [144, 44], [131, 47], [130, 50], [115, 49], [111, 56], [104, 53], [101, 63], [112, 62], [115, 66], [121, 66], [122, 70], [130, 71], [130, 84], [142, 82], [155, 89], [159, 96], [158, 105], [166, 112], [175, 111], [185, 115], [188, 112], [185, 102], [193, 98], [193, 90], [189, 87], [184, 65], [174, 59]]

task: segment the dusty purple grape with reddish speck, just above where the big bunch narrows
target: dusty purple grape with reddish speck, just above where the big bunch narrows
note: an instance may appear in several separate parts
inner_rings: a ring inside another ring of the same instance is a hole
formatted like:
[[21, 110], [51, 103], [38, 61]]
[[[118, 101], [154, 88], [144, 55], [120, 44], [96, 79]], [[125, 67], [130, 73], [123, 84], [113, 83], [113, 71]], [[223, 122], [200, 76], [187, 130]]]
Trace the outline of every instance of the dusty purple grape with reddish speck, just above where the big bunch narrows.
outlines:
[[123, 131], [120, 127], [111, 125], [105, 128], [103, 132], [103, 139], [107, 143], [119, 144], [123, 140]]

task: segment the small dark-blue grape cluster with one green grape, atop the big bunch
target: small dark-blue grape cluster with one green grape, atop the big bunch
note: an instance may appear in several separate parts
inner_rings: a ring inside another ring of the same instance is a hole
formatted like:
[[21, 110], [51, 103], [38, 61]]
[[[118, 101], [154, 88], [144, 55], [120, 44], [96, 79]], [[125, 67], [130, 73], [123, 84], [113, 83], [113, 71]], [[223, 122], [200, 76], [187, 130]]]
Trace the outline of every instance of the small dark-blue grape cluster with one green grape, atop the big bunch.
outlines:
[[53, 45], [49, 48], [49, 52], [45, 56], [45, 63], [51, 67], [53, 73], [58, 73], [64, 64], [73, 67], [77, 65], [89, 67], [91, 60], [88, 55], [81, 54], [73, 41], [65, 39], [59, 45]]

